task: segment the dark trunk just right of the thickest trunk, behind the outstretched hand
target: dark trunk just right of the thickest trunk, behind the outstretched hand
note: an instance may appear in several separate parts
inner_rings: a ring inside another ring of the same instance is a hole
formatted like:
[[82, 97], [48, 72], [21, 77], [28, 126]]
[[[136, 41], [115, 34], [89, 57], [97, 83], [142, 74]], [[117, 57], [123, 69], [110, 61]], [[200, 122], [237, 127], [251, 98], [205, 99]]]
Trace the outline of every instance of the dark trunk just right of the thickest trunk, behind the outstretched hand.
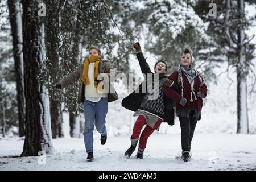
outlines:
[[[50, 81], [56, 84], [59, 81], [59, 75], [56, 75], [56, 70], [59, 69], [59, 7], [63, 2], [47, 1], [47, 24], [46, 24], [46, 54], [48, 57], [47, 69], [49, 70]], [[50, 96], [50, 112], [51, 112], [51, 127], [52, 138], [63, 137], [62, 131], [62, 111], [60, 98], [56, 98], [55, 92], [49, 90]]]

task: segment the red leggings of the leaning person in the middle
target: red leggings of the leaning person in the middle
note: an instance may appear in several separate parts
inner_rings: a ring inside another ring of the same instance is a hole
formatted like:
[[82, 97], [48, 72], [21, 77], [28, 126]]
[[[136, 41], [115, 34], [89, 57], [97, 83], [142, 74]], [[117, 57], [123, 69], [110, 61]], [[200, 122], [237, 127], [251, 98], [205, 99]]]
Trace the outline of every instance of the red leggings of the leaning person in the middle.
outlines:
[[154, 128], [147, 125], [146, 119], [139, 115], [137, 118], [134, 127], [133, 127], [133, 134], [131, 135], [131, 139], [139, 138], [139, 134], [141, 134], [142, 127], [146, 125], [144, 130], [142, 131], [141, 137], [139, 138], [139, 148], [144, 149], [146, 148], [147, 139], [150, 137], [150, 135], [157, 129], [160, 124], [162, 123], [162, 119], [158, 119], [158, 121], [155, 123]]

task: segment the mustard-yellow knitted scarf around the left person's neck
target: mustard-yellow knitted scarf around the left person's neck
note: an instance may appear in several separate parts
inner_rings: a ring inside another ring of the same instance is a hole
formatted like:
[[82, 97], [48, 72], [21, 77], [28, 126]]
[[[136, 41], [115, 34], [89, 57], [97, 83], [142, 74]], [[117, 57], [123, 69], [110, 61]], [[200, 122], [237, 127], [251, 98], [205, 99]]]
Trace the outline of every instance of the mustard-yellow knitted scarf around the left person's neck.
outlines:
[[89, 67], [89, 63], [94, 63], [94, 67], [93, 67], [93, 80], [94, 80], [94, 86], [97, 89], [98, 83], [95, 81], [95, 78], [97, 78], [98, 76], [98, 64], [100, 63], [101, 57], [100, 56], [90, 56], [88, 59], [86, 59], [84, 61], [84, 69], [82, 71], [82, 78], [81, 78], [81, 82], [84, 82], [85, 85], [89, 85], [90, 81], [88, 78], [88, 67]]

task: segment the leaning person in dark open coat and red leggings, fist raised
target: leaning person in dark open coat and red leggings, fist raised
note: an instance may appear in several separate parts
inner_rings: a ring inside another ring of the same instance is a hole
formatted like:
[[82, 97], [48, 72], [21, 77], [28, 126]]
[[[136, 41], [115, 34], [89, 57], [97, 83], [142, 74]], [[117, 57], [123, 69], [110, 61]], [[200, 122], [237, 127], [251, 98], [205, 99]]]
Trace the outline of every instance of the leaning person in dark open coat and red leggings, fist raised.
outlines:
[[[154, 130], [159, 130], [162, 122], [174, 125], [174, 110], [172, 100], [164, 95], [163, 84], [164, 80], [166, 80], [167, 64], [162, 60], [157, 61], [154, 67], [155, 73], [152, 73], [139, 43], [135, 43], [134, 48], [137, 52], [136, 56], [139, 60], [141, 71], [146, 74], [146, 80], [133, 93], [122, 100], [122, 106], [135, 111], [134, 116], [138, 116], [137, 121], [134, 123], [133, 134], [131, 135], [131, 146], [125, 152], [125, 156], [130, 157], [139, 142], [137, 158], [143, 159], [143, 151], [146, 148], [147, 139]], [[178, 89], [173, 81], [166, 82], [166, 85], [171, 86], [174, 90]], [[143, 89], [146, 92], [143, 93]], [[153, 94], [155, 96], [152, 94], [154, 90], [155, 93]], [[144, 125], [146, 127], [141, 134]]]

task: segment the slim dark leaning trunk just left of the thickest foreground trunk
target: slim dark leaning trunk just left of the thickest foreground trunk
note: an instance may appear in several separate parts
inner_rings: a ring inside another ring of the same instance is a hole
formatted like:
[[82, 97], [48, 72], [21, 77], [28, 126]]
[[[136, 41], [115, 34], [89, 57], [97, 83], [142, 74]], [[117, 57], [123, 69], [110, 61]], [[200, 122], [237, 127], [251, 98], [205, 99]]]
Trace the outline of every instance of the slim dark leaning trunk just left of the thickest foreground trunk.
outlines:
[[13, 57], [15, 64], [16, 90], [18, 101], [19, 137], [25, 135], [25, 92], [22, 52], [22, 14], [20, 0], [8, 0], [11, 35], [13, 37]]

